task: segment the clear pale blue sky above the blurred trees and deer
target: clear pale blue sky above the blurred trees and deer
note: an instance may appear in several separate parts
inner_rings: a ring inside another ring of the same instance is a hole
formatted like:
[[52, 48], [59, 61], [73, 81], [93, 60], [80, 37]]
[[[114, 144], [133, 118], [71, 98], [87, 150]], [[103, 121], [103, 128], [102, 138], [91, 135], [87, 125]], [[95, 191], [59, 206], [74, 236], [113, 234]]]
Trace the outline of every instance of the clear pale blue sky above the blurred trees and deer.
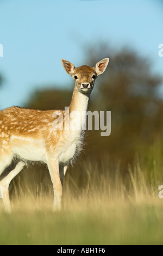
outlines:
[[84, 45], [99, 41], [117, 51], [128, 45], [162, 74], [162, 24], [160, 0], [0, 0], [0, 108], [23, 106], [47, 84], [70, 86], [60, 59], [86, 64]]

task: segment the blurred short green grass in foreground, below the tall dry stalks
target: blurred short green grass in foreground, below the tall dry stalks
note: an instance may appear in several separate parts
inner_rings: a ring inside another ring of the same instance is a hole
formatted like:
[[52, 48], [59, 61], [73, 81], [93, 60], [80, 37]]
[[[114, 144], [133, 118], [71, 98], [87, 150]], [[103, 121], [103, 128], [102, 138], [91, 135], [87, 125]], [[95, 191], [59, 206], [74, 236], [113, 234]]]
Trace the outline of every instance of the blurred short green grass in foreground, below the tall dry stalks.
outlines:
[[162, 245], [162, 206], [114, 204], [101, 209], [1, 214], [1, 245]]

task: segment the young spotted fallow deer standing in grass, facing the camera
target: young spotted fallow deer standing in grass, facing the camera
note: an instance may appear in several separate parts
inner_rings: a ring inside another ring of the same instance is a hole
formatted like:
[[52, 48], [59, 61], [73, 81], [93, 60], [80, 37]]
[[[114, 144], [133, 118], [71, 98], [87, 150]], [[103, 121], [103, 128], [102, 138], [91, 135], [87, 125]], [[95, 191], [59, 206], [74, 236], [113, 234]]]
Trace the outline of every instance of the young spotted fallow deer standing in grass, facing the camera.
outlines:
[[[94, 68], [83, 65], [76, 68], [71, 62], [61, 59], [61, 64], [68, 75], [74, 79], [72, 100], [68, 109], [78, 112], [80, 127], [74, 129], [54, 129], [54, 110], [42, 111], [23, 107], [8, 107], [0, 111], [0, 198], [4, 209], [11, 212], [9, 185], [12, 179], [29, 163], [47, 164], [51, 176], [54, 201], [53, 210], [62, 208], [63, 181], [68, 166], [80, 154], [83, 144], [90, 94], [98, 75], [103, 74], [109, 58], [102, 59]], [[63, 114], [65, 123], [66, 111]], [[78, 119], [78, 120], [79, 120]]]

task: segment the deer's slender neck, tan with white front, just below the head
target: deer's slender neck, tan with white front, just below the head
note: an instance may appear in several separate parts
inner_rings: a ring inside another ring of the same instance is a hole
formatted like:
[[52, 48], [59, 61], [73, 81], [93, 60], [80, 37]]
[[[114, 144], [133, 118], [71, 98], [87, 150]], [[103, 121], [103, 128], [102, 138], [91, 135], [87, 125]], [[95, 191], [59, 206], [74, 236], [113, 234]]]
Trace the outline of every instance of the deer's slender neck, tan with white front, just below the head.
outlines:
[[70, 104], [70, 120], [74, 114], [77, 114], [76, 121], [80, 124], [78, 126], [78, 130], [82, 131], [86, 125], [86, 112], [89, 105], [90, 94], [82, 94], [78, 92], [76, 88], [74, 88], [72, 100]]

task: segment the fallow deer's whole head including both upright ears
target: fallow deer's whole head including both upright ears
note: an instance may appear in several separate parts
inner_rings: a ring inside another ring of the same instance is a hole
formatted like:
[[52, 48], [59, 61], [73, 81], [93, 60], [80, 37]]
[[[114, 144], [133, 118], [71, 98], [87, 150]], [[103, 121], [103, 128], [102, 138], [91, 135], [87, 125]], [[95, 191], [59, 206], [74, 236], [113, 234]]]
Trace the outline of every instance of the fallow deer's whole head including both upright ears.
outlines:
[[61, 63], [67, 74], [71, 75], [75, 80], [77, 91], [83, 94], [89, 94], [92, 92], [96, 77], [105, 71], [109, 63], [109, 58], [98, 62], [95, 68], [91, 68], [91, 66], [79, 66], [79, 68], [75, 68], [71, 62], [65, 59], [62, 59]]

